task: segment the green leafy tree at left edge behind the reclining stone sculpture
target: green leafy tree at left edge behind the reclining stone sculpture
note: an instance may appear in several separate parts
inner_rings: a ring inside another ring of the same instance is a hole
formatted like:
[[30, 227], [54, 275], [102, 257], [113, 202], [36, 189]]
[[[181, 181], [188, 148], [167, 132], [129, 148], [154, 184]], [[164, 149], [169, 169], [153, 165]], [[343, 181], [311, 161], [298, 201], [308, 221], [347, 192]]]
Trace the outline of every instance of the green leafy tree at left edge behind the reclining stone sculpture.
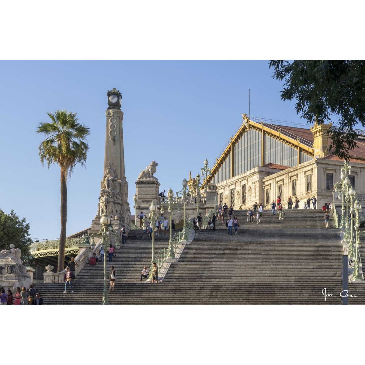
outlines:
[[9, 249], [11, 243], [22, 250], [22, 256], [30, 255], [32, 239], [29, 234], [30, 224], [25, 218], [19, 219], [14, 213], [6, 214], [0, 209], [0, 251]]

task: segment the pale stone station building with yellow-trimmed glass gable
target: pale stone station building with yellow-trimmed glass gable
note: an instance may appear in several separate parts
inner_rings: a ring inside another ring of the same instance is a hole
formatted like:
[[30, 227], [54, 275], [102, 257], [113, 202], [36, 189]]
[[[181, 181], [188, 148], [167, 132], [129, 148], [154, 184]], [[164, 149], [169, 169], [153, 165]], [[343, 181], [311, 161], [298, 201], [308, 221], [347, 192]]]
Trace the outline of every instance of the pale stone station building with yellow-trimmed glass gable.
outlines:
[[[333, 201], [334, 183], [341, 181], [343, 161], [330, 153], [330, 124], [311, 128], [268, 123], [243, 114], [243, 123], [212, 168], [208, 183], [217, 186], [218, 204], [233, 209], [262, 203], [269, 208], [277, 196], [304, 201], [316, 197], [317, 209]], [[350, 151], [351, 185], [365, 204], [365, 131], [357, 131]], [[363, 205], [364, 206], [364, 205]], [[312, 208], [312, 207], [311, 207]]]

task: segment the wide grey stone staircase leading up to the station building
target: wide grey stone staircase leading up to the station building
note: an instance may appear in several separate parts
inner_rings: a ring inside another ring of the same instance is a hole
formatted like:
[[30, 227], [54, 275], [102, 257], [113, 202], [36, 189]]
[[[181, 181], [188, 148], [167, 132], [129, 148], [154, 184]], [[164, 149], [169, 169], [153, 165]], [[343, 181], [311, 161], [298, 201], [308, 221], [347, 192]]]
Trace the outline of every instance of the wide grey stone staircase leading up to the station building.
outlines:
[[[143, 231], [131, 231], [127, 245], [107, 263], [117, 278], [109, 303], [341, 304], [342, 245], [332, 217], [325, 228], [319, 210], [287, 210], [282, 221], [266, 210], [258, 224], [247, 223], [246, 211], [235, 214], [237, 234], [228, 235], [219, 221], [216, 231], [198, 231], [159, 284], [139, 281], [143, 266], [150, 266], [151, 241]], [[155, 253], [164, 247], [168, 235], [155, 237]], [[87, 264], [73, 294], [62, 294], [62, 284], [35, 287], [45, 304], [101, 304], [103, 265]], [[338, 296], [325, 300], [324, 288]]]

